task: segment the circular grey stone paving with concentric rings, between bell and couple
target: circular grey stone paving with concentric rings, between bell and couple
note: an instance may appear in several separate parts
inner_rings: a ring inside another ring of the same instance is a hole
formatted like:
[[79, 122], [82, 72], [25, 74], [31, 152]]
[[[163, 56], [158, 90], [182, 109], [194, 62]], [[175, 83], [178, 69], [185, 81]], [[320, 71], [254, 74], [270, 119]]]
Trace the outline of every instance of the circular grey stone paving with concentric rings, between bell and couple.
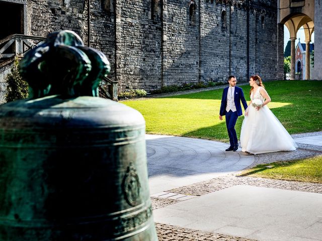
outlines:
[[209, 140], [147, 135], [146, 143], [151, 194], [226, 175], [255, 161], [252, 155], [225, 152], [226, 143]]

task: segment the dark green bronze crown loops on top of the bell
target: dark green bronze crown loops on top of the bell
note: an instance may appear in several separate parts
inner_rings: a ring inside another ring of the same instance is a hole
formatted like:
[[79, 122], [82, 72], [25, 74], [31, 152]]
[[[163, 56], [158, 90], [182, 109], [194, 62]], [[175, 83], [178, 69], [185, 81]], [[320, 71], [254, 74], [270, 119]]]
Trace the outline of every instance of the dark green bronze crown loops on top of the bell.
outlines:
[[45, 43], [31, 49], [20, 62], [20, 73], [29, 84], [29, 96], [98, 96], [98, 86], [110, 72], [106, 56], [85, 47], [72, 31], [52, 32]]

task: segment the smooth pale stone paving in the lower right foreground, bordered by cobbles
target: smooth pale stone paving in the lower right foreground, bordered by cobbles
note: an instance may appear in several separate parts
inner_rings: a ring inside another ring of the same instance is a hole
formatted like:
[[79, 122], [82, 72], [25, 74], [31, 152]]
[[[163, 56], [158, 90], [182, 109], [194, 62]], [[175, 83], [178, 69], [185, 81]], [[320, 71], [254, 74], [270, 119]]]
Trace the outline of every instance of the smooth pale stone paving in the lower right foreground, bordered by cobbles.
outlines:
[[259, 240], [322, 240], [322, 194], [236, 185], [156, 209], [168, 225]]

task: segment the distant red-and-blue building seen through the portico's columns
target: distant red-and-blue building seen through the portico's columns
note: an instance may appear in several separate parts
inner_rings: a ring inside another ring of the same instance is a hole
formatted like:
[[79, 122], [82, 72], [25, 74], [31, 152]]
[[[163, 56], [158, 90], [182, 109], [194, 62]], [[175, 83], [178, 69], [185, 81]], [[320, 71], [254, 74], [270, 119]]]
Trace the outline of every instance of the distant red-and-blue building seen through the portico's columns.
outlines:
[[[310, 55], [312, 54], [312, 51], [314, 50], [314, 43], [310, 44]], [[302, 44], [300, 42], [300, 39], [298, 39], [298, 43], [295, 49], [295, 73], [296, 78], [298, 79], [304, 79], [305, 78], [305, 54], [306, 54], [306, 44]], [[310, 64], [310, 70], [312, 70], [312, 66]], [[312, 71], [310, 71], [312, 73]]]

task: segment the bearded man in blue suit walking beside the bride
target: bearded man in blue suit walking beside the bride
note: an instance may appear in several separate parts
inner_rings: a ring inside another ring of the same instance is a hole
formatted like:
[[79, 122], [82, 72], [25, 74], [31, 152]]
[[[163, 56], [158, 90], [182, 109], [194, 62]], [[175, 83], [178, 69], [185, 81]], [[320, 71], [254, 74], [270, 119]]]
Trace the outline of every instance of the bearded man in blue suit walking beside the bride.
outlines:
[[243, 89], [237, 87], [236, 82], [235, 76], [230, 75], [228, 77], [229, 86], [223, 89], [219, 111], [220, 121], [222, 121], [222, 116], [226, 115], [226, 126], [230, 142], [230, 147], [226, 149], [226, 152], [236, 151], [238, 149], [235, 124], [238, 116], [243, 114], [240, 101], [243, 103], [244, 109], [247, 108], [247, 102], [244, 97]]

